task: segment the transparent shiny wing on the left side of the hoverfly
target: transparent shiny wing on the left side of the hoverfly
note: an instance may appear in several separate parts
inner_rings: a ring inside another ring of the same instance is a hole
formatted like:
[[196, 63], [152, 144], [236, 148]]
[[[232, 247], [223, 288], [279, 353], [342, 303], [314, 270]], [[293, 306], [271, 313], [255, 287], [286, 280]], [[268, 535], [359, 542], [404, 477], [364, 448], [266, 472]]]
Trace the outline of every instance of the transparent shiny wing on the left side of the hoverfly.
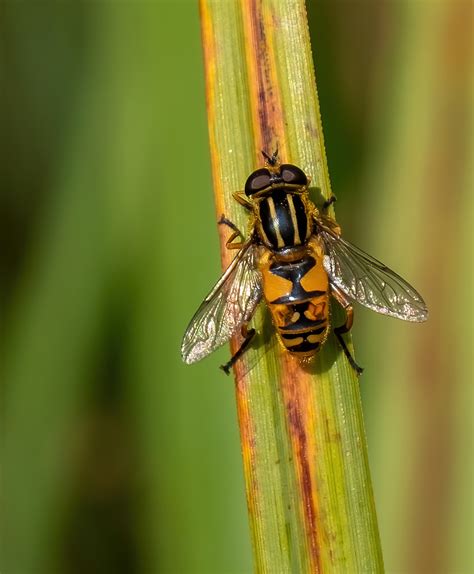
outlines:
[[249, 240], [201, 303], [181, 344], [185, 363], [200, 361], [249, 321], [262, 297], [258, 246]]

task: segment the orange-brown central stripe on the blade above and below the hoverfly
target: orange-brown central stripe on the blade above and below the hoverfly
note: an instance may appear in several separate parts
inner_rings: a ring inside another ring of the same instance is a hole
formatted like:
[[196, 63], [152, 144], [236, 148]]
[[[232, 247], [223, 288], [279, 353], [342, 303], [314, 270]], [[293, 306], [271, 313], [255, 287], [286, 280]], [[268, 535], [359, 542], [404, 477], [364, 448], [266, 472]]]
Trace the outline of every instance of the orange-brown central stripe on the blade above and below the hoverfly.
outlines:
[[[254, 115], [255, 150], [272, 153], [279, 148], [280, 158], [287, 155], [285, 143], [285, 118], [281, 104], [281, 86], [276, 74], [276, 54], [271, 36], [274, 19], [268, 4], [262, 0], [243, 3], [244, 22], [247, 33], [247, 60], [250, 69], [251, 98]], [[267, 26], [268, 24], [268, 26]], [[312, 571], [321, 572], [318, 547], [318, 519], [314, 468], [314, 425], [309, 413], [312, 411], [309, 391], [312, 380], [295, 357], [282, 350], [282, 392], [293, 457], [296, 463], [306, 540]]]

